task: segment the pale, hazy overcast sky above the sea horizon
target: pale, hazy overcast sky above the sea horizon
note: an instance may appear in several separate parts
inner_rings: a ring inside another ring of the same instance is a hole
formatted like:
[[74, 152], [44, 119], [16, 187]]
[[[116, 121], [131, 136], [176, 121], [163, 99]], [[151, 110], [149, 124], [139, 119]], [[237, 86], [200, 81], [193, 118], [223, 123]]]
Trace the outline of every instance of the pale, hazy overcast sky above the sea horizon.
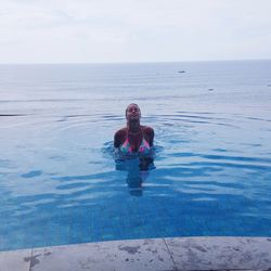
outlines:
[[0, 0], [2, 64], [270, 59], [270, 0]]

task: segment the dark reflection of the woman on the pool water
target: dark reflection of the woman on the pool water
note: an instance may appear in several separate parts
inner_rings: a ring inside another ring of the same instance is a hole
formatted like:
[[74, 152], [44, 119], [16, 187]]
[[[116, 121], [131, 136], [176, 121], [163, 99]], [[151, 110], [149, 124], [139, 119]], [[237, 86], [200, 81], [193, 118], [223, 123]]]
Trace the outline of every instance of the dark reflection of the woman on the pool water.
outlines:
[[142, 196], [142, 183], [149, 177], [149, 171], [154, 169], [154, 159], [152, 157], [129, 157], [116, 158], [116, 170], [127, 171], [126, 182], [129, 193], [132, 196]]

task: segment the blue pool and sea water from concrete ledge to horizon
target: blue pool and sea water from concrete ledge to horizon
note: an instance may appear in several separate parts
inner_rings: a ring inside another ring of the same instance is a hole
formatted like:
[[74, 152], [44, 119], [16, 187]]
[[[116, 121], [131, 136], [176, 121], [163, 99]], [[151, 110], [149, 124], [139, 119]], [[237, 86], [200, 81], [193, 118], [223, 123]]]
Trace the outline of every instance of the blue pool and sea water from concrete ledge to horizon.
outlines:
[[[185, 73], [179, 73], [185, 70]], [[271, 236], [271, 61], [0, 66], [0, 249]], [[136, 102], [149, 171], [115, 162]]]

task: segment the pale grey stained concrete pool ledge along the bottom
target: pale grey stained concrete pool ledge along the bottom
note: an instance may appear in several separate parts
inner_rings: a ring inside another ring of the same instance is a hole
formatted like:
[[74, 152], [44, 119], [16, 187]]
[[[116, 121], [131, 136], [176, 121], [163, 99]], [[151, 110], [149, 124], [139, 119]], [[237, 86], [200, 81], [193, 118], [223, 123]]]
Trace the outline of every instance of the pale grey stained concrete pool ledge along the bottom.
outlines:
[[271, 270], [271, 238], [150, 238], [2, 251], [0, 270]]

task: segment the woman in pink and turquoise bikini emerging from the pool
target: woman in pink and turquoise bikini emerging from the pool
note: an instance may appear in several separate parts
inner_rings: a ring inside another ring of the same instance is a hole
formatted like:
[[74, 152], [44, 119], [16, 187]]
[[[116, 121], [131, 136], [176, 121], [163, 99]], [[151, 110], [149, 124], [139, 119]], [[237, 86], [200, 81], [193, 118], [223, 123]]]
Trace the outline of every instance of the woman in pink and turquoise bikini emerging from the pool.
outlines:
[[147, 156], [154, 141], [154, 130], [149, 126], [140, 125], [141, 111], [138, 104], [131, 103], [126, 108], [127, 126], [116, 131], [114, 146], [121, 154], [138, 153]]

